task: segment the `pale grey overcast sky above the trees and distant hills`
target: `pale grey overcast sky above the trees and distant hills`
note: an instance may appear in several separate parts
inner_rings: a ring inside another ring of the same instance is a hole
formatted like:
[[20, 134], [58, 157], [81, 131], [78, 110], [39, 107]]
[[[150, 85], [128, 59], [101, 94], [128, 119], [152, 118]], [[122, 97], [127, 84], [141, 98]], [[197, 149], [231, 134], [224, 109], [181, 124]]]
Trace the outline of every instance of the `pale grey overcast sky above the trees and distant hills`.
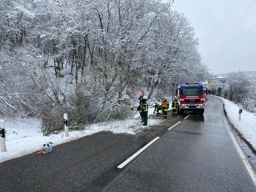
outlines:
[[175, 0], [174, 6], [191, 21], [213, 73], [256, 71], [256, 0]]

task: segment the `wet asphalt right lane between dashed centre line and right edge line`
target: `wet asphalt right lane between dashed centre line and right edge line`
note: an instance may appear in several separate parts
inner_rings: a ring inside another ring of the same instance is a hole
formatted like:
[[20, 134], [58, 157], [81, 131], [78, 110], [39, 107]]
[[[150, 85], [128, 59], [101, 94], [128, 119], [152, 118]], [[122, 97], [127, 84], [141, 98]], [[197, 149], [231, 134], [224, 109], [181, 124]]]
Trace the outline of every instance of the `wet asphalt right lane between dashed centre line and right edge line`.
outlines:
[[190, 114], [150, 145], [104, 191], [255, 192], [225, 125], [221, 99]]

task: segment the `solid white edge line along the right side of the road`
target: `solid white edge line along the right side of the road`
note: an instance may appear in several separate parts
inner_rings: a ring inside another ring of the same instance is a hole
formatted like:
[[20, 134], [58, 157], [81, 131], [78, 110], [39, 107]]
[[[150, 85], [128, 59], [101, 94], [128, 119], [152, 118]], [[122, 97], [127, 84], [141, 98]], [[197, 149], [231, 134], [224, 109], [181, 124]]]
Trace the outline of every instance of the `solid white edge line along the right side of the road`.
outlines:
[[241, 158], [242, 158], [242, 160], [243, 160], [243, 162], [244, 162], [244, 165], [246, 166], [247, 171], [249, 172], [249, 174], [250, 174], [250, 176], [251, 176], [251, 178], [252, 178], [254, 184], [256, 185], [256, 175], [255, 175], [255, 172], [253, 171], [252, 167], [250, 166], [250, 163], [248, 162], [248, 160], [246, 159], [246, 157], [245, 157], [245, 155], [244, 155], [244, 152], [242, 151], [241, 147], [240, 147], [239, 144], [237, 143], [236, 138], [234, 137], [232, 131], [230, 130], [230, 127], [229, 127], [229, 125], [227, 124], [227, 121], [226, 121], [225, 117], [224, 117], [224, 122], [225, 122], [225, 125], [226, 125], [226, 127], [227, 127], [227, 130], [228, 130], [228, 132], [230, 133], [230, 136], [231, 136], [231, 138], [232, 138], [234, 144], [236, 145], [237, 151], [239, 152], [239, 154], [240, 154], [240, 156], [241, 156]]

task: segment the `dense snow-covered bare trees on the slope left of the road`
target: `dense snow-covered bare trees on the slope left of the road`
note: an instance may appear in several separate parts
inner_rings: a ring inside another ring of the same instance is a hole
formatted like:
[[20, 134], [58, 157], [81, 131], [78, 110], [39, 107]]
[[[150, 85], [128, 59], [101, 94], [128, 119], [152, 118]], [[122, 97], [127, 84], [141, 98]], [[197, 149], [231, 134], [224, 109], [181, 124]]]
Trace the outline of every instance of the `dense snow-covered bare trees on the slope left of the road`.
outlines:
[[[69, 108], [84, 122], [123, 118], [131, 98], [137, 97], [132, 93], [142, 87], [151, 97], [179, 82], [207, 79], [194, 29], [172, 10], [172, 3], [3, 0], [0, 96], [5, 96], [5, 114], [42, 111], [42, 102], [51, 111], [44, 115]], [[12, 76], [9, 82], [7, 76]], [[19, 89], [12, 86], [17, 77]], [[72, 91], [67, 94], [63, 84]], [[31, 97], [22, 98], [30, 107], [12, 108], [18, 99], [9, 96], [5, 102], [6, 93]]]

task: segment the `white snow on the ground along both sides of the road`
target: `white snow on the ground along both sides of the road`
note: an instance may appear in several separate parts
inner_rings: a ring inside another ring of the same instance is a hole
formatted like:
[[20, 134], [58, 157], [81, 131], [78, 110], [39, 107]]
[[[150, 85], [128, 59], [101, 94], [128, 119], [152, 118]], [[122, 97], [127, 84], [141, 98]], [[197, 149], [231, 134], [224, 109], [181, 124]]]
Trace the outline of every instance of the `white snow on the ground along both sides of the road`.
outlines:
[[[256, 116], [253, 113], [243, 110], [241, 121], [239, 121], [239, 106], [227, 99], [221, 99], [224, 102], [224, 108], [227, 112], [229, 121], [240, 131], [253, 148], [256, 148]], [[148, 114], [153, 114], [153, 111], [154, 108], [149, 108]], [[158, 125], [161, 121], [161, 119], [149, 118], [148, 125]], [[41, 151], [42, 145], [49, 142], [53, 143], [54, 151], [54, 146], [56, 145], [95, 134], [100, 131], [136, 134], [147, 128], [147, 126], [143, 126], [142, 123], [140, 123], [140, 115], [138, 112], [134, 117], [125, 121], [97, 123], [86, 126], [82, 131], [69, 131], [69, 137], [65, 137], [64, 132], [50, 135], [49, 137], [43, 136], [40, 125], [38, 120], [34, 120], [29, 124], [22, 122], [5, 122], [7, 151], [0, 152], [0, 163], [26, 154]]]

